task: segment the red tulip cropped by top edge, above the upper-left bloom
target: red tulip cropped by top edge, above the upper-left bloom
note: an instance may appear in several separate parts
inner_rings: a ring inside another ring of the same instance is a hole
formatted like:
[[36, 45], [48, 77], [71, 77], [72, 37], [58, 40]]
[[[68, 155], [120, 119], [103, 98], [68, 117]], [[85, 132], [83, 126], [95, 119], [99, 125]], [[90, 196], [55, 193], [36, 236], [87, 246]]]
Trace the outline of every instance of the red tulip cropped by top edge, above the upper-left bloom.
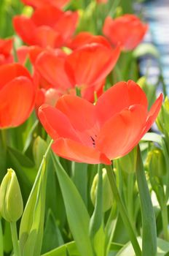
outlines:
[[58, 8], [64, 7], [70, 0], [22, 0], [24, 4], [31, 5], [31, 7], [39, 8], [43, 5], [53, 5]]

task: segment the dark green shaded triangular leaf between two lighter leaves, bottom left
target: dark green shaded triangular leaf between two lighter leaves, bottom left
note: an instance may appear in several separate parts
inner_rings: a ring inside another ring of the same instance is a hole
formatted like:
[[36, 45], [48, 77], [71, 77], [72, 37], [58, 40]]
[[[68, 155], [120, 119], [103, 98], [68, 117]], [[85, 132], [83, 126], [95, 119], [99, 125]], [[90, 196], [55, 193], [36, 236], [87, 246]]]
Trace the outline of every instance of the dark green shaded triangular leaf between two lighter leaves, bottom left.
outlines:
[[64, 241], [56, 223], [55, 217], [53, 216], [52, 211], [49, 210], [47, 213], [47, 220], [44, 227], [42, 253], [48, 252], [54, 249], [56, 246], [61, 246], [63, 244]]

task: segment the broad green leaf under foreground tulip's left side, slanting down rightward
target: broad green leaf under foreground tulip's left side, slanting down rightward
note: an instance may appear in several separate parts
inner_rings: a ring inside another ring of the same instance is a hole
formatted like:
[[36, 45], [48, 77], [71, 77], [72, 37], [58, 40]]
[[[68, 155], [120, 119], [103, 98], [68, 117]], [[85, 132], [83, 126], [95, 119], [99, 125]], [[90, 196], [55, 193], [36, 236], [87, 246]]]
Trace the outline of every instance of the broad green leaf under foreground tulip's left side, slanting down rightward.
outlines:
[[52, 157], [63, 194], [68, 224], [76, 241], [76, 246], [81, 256], [93, 256], [93, 249], [89, 238], [90, 217], [87, 209], [71, 178], [68, 177], [60, 162], [58, 162], [58, 158], [54, 154], [52, 154]]

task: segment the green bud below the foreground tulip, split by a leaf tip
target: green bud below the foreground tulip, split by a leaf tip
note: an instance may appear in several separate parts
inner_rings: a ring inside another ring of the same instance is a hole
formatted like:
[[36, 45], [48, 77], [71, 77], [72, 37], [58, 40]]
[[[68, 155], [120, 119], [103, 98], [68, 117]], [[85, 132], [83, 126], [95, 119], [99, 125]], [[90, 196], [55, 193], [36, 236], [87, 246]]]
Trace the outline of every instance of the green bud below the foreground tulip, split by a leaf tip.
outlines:
[[[107, 177], [106, 169], [103, 168], [102, 171], [102, 178], [103, 178], [103, 211], [109, 210], [113, 204], [113, 194], [111, 192], [111, 187], [109, 184], [109, 179]], [[98, 189], [98, 173], [95, 175], [93, 179], [93, 184], [90, 190], [90, 197], [93, 202], [93, 206], [95, 206], [95, 199], [97, 195]]]

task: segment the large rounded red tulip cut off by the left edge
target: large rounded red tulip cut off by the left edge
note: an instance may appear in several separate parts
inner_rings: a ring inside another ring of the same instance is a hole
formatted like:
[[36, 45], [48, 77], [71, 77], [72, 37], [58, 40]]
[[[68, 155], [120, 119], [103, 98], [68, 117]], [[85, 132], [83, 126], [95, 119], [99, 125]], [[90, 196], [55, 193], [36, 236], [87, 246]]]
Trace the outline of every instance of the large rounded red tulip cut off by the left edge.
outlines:
[[28, 70], [20, 64], [0, 67], [0, 128], [17, 127], [34, 108], [35, 88]]

